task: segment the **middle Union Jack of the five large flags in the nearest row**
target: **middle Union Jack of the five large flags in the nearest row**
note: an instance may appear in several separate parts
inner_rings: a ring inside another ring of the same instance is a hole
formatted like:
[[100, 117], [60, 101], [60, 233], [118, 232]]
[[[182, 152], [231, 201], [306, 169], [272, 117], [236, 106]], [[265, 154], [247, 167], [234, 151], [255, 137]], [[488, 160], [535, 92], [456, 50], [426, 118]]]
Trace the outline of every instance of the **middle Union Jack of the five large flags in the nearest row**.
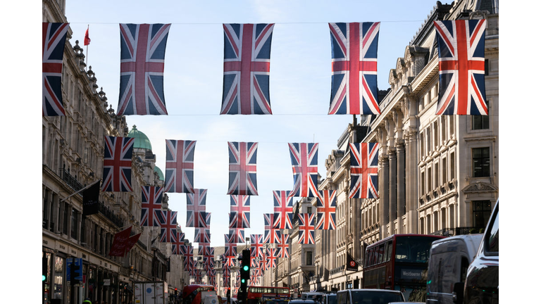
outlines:
[[272, 114], [268, 90], [274, 24], [223, 25], [220, 114]]

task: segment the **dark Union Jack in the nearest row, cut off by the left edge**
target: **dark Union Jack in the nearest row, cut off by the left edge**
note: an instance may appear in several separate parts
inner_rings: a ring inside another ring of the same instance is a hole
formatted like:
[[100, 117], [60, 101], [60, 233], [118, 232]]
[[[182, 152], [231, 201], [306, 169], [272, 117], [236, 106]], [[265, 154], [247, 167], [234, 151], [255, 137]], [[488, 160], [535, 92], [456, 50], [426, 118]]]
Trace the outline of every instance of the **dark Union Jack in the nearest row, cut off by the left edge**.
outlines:
[[69, 23], [42, 23], [42, 115], [65, 116], [62, 61]]

